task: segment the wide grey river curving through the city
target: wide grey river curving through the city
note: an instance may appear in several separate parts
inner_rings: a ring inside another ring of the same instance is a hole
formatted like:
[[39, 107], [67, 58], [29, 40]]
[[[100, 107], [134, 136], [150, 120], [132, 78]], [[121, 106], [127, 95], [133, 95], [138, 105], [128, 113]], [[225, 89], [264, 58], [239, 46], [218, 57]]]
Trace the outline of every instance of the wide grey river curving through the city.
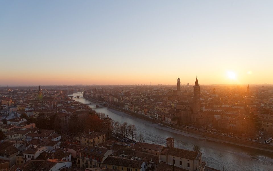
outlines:
[[[73, 95], [80, 95], [80, 93], [74, 93]], [[92, 103], [84, 98], [73, 99], [82, 103]], [[107, 107], [96, 108], [95, 105], [89, 106], [96, 112], [105, 113], [115, 121], [134, 124], [137, 128], [137, 133], [142, 133], [144, 136], [145, 143], [154, 143], [166, 146], [166, 138], [172, 137], [175, 139], [175, 147], [202, 152], [202, 160], [207, 163], [207, 166], [219, 170], [223, 170], [224, 166], [224, 170], [230, 171], [273, 171], [272, 152], [198, 139], [198, 137], [200, 137], [199, 135], [193, 135], [163, 127], [158, 124], [144, 121], [143, 119], [132, 117], [131, 115], [121, 111]]]

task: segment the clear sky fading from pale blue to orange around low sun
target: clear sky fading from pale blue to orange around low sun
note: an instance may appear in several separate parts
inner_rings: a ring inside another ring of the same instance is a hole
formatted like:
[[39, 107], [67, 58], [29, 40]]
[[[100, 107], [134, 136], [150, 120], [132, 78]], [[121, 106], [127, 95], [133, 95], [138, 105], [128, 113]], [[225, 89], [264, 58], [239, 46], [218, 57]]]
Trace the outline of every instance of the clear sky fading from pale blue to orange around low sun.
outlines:
[[0, 85], [273, 84], [272, 8], [0, 0]]

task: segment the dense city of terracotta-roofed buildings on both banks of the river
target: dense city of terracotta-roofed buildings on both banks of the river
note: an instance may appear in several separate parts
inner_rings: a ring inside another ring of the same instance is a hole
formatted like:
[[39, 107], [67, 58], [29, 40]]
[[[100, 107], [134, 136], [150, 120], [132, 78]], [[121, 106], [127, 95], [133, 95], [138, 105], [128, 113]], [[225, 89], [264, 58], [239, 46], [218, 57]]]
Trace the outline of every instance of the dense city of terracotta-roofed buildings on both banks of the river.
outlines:
[[177, 148], [173, 137], [146, 143], [136, 125], [100, 108], [204, 137], [196, 141], [273, 152], [272, 85], [199, 84], [1, 87], [1, 169], [233, 170], [204, 161], [198, 148]]

